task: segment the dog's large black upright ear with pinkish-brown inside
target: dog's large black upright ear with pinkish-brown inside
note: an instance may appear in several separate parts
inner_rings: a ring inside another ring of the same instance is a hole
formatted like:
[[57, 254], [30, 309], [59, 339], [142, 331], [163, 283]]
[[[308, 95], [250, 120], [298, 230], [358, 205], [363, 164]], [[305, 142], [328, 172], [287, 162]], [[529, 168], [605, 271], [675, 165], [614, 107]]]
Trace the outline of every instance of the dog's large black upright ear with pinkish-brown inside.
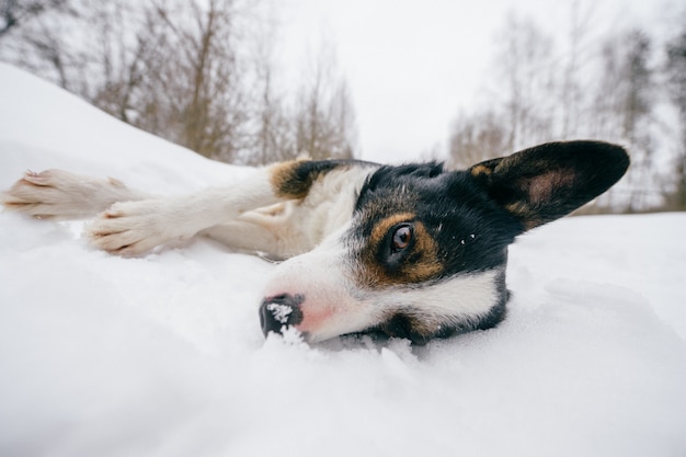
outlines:
[[599, 141], [549, 142], [469, 169], [490, 197], [526, 230], [592, 201], [627, 171], [629, 156]]

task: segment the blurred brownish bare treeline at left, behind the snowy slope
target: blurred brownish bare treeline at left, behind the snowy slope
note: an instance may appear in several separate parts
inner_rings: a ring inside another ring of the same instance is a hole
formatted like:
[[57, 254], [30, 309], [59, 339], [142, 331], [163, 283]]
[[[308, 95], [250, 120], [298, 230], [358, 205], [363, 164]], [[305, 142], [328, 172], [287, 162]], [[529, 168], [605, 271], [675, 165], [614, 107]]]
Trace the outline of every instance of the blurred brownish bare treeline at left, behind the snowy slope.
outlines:
[[203, 156], [260, 164], [355, 155], [335, 53], [286, 92], [256, 0], [2, 0], [0, 57]]

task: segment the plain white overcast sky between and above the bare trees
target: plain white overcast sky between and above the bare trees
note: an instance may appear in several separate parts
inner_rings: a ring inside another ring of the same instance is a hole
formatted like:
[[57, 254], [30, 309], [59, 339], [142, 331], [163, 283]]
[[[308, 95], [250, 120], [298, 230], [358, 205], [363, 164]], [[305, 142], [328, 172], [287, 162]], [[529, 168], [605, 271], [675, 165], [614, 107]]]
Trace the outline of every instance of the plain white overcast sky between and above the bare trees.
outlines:
[[[284, 70], [301, 71], [319, 43], [333, 43], [353, 95], [362, 158], [385, 162], [418, 159], [433, 148], [443, 151], [460, 107], [478, 103], [495, 54], [495, 31], [508, 12], [534, 16], [563, 41], [573, 4], [573, 0], [273, 1], [282, 21], [277, 52]], [[579, 0], [582, 11], [592, 11], [591, 28], [599, 35], [628, 24], [651, 30], [674, 22], [684, 11], [683, 2]]]

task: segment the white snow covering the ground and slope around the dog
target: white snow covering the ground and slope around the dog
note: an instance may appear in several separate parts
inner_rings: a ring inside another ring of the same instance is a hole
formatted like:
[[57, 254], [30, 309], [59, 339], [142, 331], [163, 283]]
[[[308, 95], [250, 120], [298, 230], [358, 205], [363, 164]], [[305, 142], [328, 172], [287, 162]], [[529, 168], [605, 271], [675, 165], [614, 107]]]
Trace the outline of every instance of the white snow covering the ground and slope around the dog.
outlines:
[[[0, 187], [27, 168], [181, 193], [205, 160], [0, 65]], [[578, 217], [511, 249], [499, 328], [266, 341], [272, 264], [207, 240], [139, 259], [0, 213], [1, 456], [686, 455], [686, 215]]]

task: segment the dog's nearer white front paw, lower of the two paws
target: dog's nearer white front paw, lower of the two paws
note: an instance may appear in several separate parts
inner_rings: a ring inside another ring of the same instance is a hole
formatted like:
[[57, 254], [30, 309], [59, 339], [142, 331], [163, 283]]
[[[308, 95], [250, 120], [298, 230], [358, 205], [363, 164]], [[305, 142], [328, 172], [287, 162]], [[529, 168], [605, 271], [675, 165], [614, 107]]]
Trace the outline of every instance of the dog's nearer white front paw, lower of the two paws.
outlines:
[[157, 199], [115, 203], [85, 228], [85, 235], [96, 248], [126, 256], [192, 237], [165, 206]]

